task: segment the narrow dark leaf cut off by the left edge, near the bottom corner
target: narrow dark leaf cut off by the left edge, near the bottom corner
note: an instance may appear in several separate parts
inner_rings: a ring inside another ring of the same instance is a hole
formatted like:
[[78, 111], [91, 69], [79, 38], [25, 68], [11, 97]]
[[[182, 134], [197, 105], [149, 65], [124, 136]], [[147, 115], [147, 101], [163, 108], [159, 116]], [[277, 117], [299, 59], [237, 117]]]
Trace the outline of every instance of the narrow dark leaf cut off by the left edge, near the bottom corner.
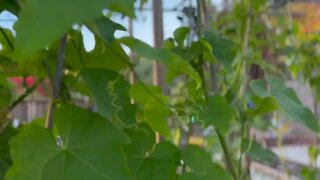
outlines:
[[11, 126], [7, 126], [0, 133], [0, 179], [4, 179], [8, 168], [12, 165], [12, 159], [9, 152], [9, 140], [16, 134], [17, 131]]

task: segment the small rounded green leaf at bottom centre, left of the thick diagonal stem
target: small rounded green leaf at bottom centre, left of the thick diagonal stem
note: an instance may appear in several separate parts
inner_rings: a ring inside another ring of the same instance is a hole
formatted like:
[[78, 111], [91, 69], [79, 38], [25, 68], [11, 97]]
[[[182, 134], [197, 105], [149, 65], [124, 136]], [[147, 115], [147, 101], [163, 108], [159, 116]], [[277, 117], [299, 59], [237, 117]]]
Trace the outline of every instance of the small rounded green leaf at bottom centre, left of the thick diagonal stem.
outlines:
[[181, 159], [198, 175], [205, 174], [207, 168], [212, 165], [210, 153], [195, 145], [188, 145], [181, 150]]

